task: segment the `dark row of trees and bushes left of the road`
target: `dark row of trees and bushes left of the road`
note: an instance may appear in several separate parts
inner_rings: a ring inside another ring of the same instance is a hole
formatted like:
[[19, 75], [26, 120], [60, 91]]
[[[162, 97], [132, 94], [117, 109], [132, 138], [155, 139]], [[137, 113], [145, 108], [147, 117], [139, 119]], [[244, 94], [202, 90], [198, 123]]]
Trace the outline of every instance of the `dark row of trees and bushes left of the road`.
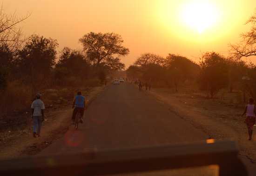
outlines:
[[129, 50], [120, 35], [90, 32], [79, 41], [82, 50], [65, 47], [59, 54], [57, 40], [39, 35], [16, 50], [0, 45], [0, 115], [26, 109], [37, 92], [98, 86], [124, 69], [119, 57]]

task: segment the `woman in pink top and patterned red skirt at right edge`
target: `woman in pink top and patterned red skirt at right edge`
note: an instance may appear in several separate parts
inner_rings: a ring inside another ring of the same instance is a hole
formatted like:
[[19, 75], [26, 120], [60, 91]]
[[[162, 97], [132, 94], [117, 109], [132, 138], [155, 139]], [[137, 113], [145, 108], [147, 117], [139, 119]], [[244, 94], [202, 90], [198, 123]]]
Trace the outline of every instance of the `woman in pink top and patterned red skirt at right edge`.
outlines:
[[249, 104], [245, 107], [245, 110], [242, 114], [242, 116], [246, 113], [246, 119], [245, 123], [248, 127], [248, 134], [249, 134], [249, 140], [251, 140], [252, 137], [252, 130], [253, 126], [255, 124], [255, 117], [256, 117], [256, 108], [253, 104], [254, 100], [252, 98], [249, 99]]

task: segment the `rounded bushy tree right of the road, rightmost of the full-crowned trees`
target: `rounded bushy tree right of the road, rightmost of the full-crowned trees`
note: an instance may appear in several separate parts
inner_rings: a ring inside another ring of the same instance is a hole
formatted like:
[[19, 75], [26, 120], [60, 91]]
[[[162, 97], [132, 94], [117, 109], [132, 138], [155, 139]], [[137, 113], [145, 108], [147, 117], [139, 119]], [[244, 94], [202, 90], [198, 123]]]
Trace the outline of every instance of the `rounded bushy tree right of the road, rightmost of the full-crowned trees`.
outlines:
[[201, 88], [207, 90], [210, 98], [213, 98], [221, 88], [228, 85], [228, 61], [219, 53], [207, 52], [202, 56], [200, 66]]

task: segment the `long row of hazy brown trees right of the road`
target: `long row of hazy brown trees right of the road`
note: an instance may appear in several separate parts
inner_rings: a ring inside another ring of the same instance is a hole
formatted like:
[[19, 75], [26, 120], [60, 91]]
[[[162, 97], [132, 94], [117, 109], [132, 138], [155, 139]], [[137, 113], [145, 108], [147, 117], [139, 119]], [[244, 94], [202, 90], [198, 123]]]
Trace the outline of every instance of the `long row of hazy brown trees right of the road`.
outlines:
[[216, 52], [203, 54], [199, 63], [175, 54], [166, 58], [142, 54], [127, 69], [127, 76], [130, 80], [151, 82], [157, 87], [174, 87], [175, 91], [185, 83], [197, 84], [211, 98], [222, 88], [228, 88], [230, 92], [245, 90], [256, 98], [256, 65], [225, 58]]

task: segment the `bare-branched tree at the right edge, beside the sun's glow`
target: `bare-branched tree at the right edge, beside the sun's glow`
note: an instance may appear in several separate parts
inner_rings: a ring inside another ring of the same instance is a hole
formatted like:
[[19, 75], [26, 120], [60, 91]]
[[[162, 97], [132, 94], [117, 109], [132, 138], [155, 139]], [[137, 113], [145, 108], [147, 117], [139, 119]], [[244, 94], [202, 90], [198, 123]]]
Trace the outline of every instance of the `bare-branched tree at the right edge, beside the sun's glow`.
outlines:
[[252, 25], [250, 31], [241, 34], [242, 41], [240, 44], [230, 44], [230, 53], [238, 59], [256, 56], [256, 13], [245, 24]]

